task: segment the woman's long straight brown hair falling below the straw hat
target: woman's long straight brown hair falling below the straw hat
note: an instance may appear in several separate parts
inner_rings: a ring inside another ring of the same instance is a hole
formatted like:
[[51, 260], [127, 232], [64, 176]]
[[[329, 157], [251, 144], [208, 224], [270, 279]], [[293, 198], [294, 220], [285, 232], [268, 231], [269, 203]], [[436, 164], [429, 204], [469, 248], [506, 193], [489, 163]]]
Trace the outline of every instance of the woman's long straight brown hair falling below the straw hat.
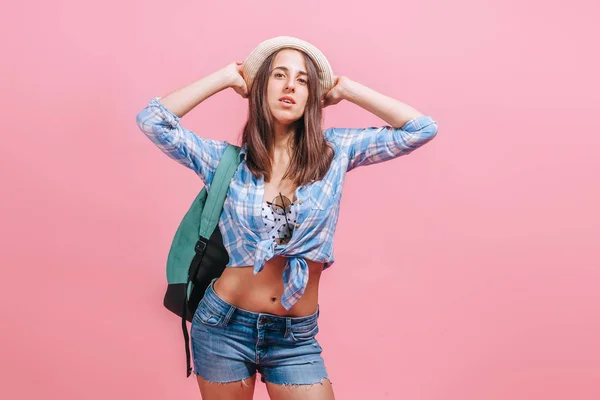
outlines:
[[[267, 103], [267, 83], [271, 64], [279, 51], [265, 60], [254, 78], [248, 96], [248, 120], [242, 135], [242, 144], [247, 145], [248, 169], [254, 176], [263, 175], [266, 182], [271, 179], [271, 155], [275, 144], [273, 115]], [[304, 115], [294, 123], [295, 133], [290, 138], [290, 146], [295, 151], [291, 153], [290, 164], [282, 178], [289, 178], [298, 186], [323, 179], [334, 155], [321, 128], [323, 109], [317, 67], [306, 53], [302, 52], [302, 55], [308, 72], [308, 100]]]

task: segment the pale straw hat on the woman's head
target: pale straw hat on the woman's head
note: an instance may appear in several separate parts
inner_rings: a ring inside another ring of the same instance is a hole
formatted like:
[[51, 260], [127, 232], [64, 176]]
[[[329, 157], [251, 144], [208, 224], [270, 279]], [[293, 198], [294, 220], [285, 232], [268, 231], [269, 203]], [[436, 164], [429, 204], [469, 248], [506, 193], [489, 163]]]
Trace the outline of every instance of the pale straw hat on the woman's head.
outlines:
[[254, 82], [254, 77], [262, 63], [271, 54], [283, 48], [292, 48], [303, 51], [314, 61], [319, 73], [321, 93], [325, 96], [334, 85], [333, 71], [331, 65], [329, 65], [329, 61], [327, 61], [327, 58], [325, 58], [323, 53], [312, 44], [291, 36], [278, 36], [267, 39], [259, 44], [252, 50], [248, 57], [246, 57], [244, 65], [242, 66], [242, 74], [246, 81], [246, 86], [248, 86], [248, 91], [250, 91], [252, 82]]

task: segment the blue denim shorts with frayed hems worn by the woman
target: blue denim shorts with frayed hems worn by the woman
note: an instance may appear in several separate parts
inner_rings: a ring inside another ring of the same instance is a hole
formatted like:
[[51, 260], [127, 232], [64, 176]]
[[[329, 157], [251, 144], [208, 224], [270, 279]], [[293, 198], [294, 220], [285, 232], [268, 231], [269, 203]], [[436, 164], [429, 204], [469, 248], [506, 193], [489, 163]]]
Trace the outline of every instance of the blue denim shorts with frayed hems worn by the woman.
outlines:
[[263, 382], [279, 385], [309, 385], [329, 379], [321, 357], [323, 349], [315, 339], [318, 307], [305, 317], [242, 310], [215, 293], [215, 280], [192, 321], [196, 375], [209, 382], [227, 383], [258, 371]]

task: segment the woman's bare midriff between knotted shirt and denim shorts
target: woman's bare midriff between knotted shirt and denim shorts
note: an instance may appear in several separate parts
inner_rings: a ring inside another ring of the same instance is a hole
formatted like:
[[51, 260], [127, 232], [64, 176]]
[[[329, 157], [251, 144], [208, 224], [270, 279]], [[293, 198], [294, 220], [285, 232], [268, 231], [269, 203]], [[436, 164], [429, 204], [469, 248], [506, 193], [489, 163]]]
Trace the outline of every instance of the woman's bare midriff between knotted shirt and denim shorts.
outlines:
[[317, 311], [319, 279], [323, 263], [306, 260], [309, 278], [302, 297], [290, 309], [281, 304], [283, 269], [287, 259], [282, 256], [267, 261], [254, 275], [253, 267], [229, 267], [215, 281], [215, 292], [226, 302], [243, 310], [281, 316], [303, 317]]

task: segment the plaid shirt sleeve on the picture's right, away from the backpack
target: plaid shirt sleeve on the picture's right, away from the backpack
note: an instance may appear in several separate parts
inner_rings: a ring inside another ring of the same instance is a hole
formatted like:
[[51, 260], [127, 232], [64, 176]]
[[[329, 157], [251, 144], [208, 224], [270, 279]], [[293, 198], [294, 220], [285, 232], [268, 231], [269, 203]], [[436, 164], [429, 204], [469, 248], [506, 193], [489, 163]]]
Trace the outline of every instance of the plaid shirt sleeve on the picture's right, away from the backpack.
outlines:
[[427, 116], [413, 118], [401, 128], [329, 128], [331, 137], [348, 157], [348, 171], [411, 153], [432, 140], [437, 123]]

